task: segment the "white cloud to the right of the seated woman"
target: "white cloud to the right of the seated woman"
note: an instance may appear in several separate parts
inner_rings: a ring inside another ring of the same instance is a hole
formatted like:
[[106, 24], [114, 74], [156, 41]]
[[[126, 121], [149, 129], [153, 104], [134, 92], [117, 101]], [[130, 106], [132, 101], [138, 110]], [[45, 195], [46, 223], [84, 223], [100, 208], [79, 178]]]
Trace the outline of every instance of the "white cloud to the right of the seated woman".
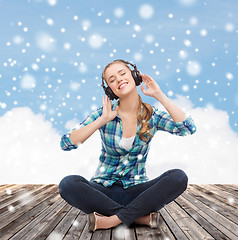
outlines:
[[191, 101], [179, 95], [173, 102], [192, 116], [197, 131], [186, 137], [162, 131], [155, 135], [148, 155], [148, 175], [154, 178], [170, 168], [181, 168], [189, 183], [237, 184], [238, 135], [229, 125], [227, 112], [212, 105], [193, 108]]

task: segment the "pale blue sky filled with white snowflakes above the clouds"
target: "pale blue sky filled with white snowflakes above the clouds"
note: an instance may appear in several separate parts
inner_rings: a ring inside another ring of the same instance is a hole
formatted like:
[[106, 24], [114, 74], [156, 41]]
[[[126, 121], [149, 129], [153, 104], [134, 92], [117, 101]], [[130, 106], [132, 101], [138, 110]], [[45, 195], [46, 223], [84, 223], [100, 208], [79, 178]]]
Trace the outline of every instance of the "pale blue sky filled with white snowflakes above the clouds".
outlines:
[[121, 58], [238, 132], [237, 12], [229, 0], [2, 0], [0, 116], [29, 107], [64, 133], [102, 105], [103, 67]]

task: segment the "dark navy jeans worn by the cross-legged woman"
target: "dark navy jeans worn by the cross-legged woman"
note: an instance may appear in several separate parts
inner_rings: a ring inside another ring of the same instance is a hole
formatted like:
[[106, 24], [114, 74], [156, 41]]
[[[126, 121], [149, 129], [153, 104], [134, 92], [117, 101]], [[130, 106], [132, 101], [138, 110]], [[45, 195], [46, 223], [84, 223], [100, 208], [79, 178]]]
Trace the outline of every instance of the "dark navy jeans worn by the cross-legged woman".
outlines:
[[110, 187], [71, 175], [59, 184], [61, 197], [70, 205], [89, 214], [116, 214], [127, 227], [140, 216], [158, 211], [187, 188], [188, 177], [183, 170], [172, 169], [145, 183], [123, 188], [121, 181]]

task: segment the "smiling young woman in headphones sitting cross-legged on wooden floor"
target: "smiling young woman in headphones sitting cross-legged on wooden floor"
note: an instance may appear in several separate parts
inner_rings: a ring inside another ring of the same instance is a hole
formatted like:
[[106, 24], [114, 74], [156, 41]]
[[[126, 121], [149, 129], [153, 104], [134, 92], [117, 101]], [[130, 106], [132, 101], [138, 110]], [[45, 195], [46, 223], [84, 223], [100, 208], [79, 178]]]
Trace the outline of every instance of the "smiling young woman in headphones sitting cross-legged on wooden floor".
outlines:
[[[141, 85], [141, 91], [159, 101], [168, 113], [142, 102], [136, 88], [142, 81], [146, 89]], [[90, 231], [120, 223], [128, 227], [133, 222], [157, 228], [158, 211], [186, 190], [188, 178], [183, 170], [171, 169], [148, 179], [145, 163], [151, 140], [159, 130], [186, 136], [196, 126], [156, 81], [129, 62], [109, 63], [102, 73], [102, 86], [107, 95], [103, 106], [61, 139], [62, 149], [69, 151], [99, 129], [102, 150], [97, 170], [90, 181], [78, 175], [63, 178], [60, 195], [88, 214]], [[112, 104], [111, 99], [119, 100]]]

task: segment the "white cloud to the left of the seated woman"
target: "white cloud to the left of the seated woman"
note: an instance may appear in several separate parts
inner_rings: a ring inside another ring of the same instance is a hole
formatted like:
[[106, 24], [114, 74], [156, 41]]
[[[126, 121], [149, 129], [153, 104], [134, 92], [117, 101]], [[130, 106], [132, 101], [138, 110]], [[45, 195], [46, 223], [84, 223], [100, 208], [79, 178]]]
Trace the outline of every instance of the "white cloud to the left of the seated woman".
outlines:
[[59, 183], [70, 174], [90, 179], [96, 170], [101, 146], [98, 132], [78, 150], [64, 152], [60, 134], [28, 107], [14, 108], [0, 117], [0, 132], [0, 184]]

